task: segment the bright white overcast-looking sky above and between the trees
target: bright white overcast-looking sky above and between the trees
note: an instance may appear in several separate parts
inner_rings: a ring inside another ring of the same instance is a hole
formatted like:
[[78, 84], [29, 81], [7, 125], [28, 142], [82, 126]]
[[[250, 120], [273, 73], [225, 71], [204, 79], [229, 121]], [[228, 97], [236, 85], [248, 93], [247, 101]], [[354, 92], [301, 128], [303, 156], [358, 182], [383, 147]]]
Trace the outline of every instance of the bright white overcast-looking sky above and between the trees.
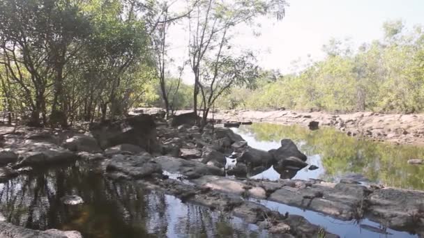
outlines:
[[[382, 25], [402, 19], [407, 28], [424, 25], [424, 0], [288, 0], [286, 16], [258, 19], [258, 37], [252, 29], [240, 26], [234, 45], [252, 49], [260, 67], [266, 70], [293, 72], [292, 62], [319, 61], [324, 58], [322, 45], [331, 38], [350, 38], [354, 47], [381, 39]], [[181, 27], [170, 31], [169, 56], [177, 65], [187, 58], [187, 35]], [[185, 73], [187, 74], [187, 73]], [[185, 77], [190, 81], [190, 77]]]

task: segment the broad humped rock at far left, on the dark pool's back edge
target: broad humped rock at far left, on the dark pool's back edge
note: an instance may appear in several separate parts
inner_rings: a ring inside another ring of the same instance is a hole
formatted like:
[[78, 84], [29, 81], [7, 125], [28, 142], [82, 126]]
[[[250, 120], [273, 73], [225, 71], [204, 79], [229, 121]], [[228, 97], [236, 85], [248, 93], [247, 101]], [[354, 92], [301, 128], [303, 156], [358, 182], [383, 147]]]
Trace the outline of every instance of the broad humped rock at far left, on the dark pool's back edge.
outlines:
[[45, 166], [45, 164], [66, 163], [76, 160], [78, 157], [66, 150], [47, 142], [36, 142], [23, 145], [17, 150], [22, 160], [16, 165], [22, 166]]

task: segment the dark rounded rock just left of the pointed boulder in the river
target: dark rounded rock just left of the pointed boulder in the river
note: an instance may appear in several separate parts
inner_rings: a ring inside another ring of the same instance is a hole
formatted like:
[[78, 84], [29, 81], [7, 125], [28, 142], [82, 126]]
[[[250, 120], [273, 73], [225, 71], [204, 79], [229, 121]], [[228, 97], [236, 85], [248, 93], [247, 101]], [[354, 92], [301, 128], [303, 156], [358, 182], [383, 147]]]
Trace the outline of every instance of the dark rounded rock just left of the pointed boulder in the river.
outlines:
[[241, 154], [241, 157], [237, 158], [238, 163], [241, 162], [250, 167], [271, 166], [273, 161], [274, 158], [269, 152], [257, 150], [250, 146]]

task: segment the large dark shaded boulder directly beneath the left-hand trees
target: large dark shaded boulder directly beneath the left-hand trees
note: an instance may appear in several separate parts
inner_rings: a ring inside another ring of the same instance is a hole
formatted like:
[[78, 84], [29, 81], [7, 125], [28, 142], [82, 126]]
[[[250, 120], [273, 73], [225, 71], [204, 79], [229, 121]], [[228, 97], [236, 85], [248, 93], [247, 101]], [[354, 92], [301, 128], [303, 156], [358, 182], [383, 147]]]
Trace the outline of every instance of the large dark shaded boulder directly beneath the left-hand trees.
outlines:
[[100, 148], [114, 145], [138, 145], [146, 151], [159, 151], [156, 123], [151, 115], [141, 114], [116, 122], [100, 122], [90, 126]]

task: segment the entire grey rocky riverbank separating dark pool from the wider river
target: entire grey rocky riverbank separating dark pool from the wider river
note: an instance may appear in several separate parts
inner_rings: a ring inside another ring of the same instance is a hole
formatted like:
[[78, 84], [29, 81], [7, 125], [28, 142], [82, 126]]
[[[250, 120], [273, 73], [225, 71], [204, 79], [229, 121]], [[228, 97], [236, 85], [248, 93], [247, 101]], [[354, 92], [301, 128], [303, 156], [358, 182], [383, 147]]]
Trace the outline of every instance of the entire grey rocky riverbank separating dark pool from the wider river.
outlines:
[[[160, 115], [142, 114], [93, 123], [86, 131], [21, 127], [3, 135], [1, 179], [6, 181], [36, 166], [77, 159], [99, 161], [96, 170], [108, 179], [129, 181], [169, 193], [185, 203], [219, 209], [277, 237], [338, 235], [302, 216], [274, 211], [259, 200], [319, 212], [340, 221], [367, 218], [424, 237], [422, 191], [379, 184], [365, 186], [354, 180], [338, 184], [321, 180], [251, 180], [249, 176], [271, 166], [282, 173], [304, 168], [308, 166], [305, 154], [289, 138], [282, 138], [276, 150], [257, 150], [230, 129], [208, 125], [201, 131], [193, 123], [190, 114], [177, 116], [173, 122]], [[3, 237], [19, 237], [8, 235], [12, 234], [8, 229], [14, 226], [0, 223]], [[45, 237], [49, 234], [43, 232]]]

